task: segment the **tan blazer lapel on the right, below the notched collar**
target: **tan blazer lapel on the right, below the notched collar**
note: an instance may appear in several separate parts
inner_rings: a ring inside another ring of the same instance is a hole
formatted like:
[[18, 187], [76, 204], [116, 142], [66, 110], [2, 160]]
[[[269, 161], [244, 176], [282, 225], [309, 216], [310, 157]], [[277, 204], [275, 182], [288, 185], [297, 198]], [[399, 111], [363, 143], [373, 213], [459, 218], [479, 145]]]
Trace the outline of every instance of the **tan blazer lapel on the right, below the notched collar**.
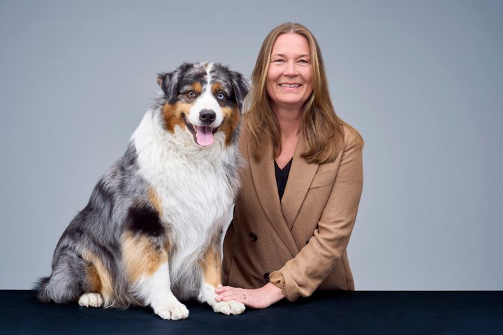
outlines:
[[293, 161], [281, 202], [282, 213], [289, 230], [293, 227], [300, 206], [304, 202], [304, 198], [307, 191], [309, 191], [309, 186], [319, 165], [317, 163], [309, 164], [300, 156], [305, 149], [304, 137], [301, 134], [295, 154], [293, 154]]

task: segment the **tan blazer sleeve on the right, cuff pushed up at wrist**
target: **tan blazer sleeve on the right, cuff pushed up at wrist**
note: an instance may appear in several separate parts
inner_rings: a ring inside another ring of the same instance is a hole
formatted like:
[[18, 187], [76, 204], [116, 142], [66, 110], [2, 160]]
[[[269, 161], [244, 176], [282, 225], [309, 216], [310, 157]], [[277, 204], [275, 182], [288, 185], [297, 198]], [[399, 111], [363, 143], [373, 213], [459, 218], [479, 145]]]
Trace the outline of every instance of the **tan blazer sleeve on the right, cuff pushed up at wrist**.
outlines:
[[281, 288], [286, 299], [309, 297], [330, 274], [334, 260], [342, 256], [349, 242], [362, 188], [362, 148], [351, 135], [314, 237], [295, 258], [269, 276], [270, 283]]

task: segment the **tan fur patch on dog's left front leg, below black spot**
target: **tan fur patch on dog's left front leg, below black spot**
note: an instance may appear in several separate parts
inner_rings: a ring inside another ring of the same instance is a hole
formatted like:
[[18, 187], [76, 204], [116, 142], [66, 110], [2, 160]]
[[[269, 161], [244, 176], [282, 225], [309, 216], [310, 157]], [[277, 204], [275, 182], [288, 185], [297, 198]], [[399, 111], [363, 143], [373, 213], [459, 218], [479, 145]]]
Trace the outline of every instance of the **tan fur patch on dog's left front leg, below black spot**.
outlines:
[[130, 283], [141, 276], [152, 276], [156, 269], [168, 261], [168, 246], [159, 246], [145, 235], [124, 233], [122, 237], [122, 260]]

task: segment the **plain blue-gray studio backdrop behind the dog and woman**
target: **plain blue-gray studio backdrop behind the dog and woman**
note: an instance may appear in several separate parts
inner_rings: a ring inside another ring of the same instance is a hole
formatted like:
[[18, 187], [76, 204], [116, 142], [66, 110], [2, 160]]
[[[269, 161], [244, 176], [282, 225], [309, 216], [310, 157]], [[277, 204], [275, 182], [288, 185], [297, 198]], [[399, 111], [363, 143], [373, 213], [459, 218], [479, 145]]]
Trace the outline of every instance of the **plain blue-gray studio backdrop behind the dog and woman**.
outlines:
[[249, 77], [286, 21], [318, 38], [366, 141], [356, 288], [503, 289], [503, 1], [181, 2], [0, 1], [1, 289], [50, 273], [156, 73], [209, 60]]

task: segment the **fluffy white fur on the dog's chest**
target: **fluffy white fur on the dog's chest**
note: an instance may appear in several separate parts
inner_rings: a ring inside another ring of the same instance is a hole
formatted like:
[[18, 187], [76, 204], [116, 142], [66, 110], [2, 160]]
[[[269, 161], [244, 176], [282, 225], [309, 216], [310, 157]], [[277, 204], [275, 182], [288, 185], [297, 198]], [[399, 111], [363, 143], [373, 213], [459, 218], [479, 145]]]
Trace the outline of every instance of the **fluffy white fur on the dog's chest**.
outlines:
[[235, 165], [237, 149], [224, 146], [223, 133], [214, 135], [211, 146], [198, 147], [178, 127], [168, 133], [156, 114], [147, 112], [132, 138], [139, 173], [161, 200], [162, 221], [176, 245], [170, 273], [177, 277], [226, 223], [235, 190], [225, 165]]

